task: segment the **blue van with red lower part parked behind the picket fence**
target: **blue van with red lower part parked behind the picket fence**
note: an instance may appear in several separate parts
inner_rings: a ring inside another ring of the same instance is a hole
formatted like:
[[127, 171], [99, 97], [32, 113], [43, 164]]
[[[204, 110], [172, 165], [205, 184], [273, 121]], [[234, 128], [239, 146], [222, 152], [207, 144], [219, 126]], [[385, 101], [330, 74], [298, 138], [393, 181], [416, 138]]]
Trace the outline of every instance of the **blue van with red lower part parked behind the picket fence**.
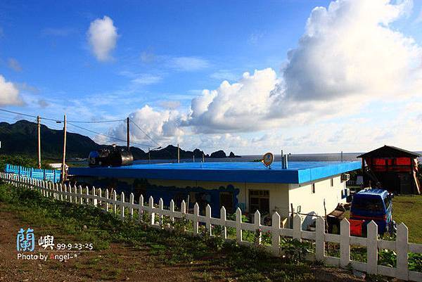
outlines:
[[394, 232], [392, 194], [388, 191], [364, 189], [354, 195], [350, 207], [350, 235], [366, 236], [366, 225], [371, 220], [378, 225], [378, 234]]

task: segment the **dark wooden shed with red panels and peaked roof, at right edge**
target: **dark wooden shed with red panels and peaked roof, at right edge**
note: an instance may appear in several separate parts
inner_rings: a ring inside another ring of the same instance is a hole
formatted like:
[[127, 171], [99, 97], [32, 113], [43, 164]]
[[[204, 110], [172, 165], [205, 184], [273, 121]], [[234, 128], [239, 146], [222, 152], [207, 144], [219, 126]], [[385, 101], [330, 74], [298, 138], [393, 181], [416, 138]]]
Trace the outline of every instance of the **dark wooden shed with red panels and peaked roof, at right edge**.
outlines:
[[420, 194], [418, 157], [418, 153], [387, 145], [359, 155], [364, 186], [381, 186], [397, 194]]

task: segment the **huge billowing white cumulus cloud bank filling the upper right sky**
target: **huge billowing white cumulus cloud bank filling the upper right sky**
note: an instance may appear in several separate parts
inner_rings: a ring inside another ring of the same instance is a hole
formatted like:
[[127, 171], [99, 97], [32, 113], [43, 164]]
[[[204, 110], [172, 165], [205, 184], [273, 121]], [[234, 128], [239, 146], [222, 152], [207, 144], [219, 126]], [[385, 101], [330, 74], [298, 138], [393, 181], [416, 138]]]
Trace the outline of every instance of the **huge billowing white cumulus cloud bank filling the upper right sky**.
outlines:
[[251, 132], [348, 113], [381, 97], [422, 94], [422, 48], [389, 26], [409, 6], [338, 0], [314, 8], [279, 77], [270, 68], [255, 70], [204, 90], [184, 125], [205, 133]]

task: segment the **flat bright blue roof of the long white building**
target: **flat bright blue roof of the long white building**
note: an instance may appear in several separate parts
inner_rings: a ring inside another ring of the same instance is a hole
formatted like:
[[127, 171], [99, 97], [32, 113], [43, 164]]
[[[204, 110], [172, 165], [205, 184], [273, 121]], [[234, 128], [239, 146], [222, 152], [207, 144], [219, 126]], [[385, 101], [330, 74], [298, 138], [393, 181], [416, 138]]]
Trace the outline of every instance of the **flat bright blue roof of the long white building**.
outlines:
[[361, 162], [289, 162], [288, 169], [274, 162], [183, 162], [127, 167], [69, 167], [69, 174], [91, 177], [146, 178], [302, 184], [360, 169]]

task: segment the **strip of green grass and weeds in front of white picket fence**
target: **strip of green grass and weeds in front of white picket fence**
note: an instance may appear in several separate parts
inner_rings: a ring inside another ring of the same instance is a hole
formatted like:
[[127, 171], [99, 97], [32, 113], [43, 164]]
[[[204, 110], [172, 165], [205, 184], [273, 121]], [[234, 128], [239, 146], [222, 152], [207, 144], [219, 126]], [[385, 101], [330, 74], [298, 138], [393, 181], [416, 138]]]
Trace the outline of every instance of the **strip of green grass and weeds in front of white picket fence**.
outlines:
[[[53, 233], [57, 241], [73, 236], [81, 243], [94, 243], [96, 250], [109, 248], [110, 243], [126, 243], [139, 250], [148, 248], [157, 263], [177, 266], [206, 261], [212, 269], [226, 269], [203, 274], [207, 279], [212, 276], [212, 280], [234, 277], [238, 281], [312, 281], [314, 268], [321, 267], [302, 261], [298, 252], [274, 259], [260, 248], [242, 247], [218, 237], [192, 237], [177, 228], [170, 233], [130, 220], [122, 222], [96, 207], [44, 198], [36, 191], [6, 184], [0, 184], [0, 202], [36, 232]], [[289, 241], [283, 243], [293, 246]]]

